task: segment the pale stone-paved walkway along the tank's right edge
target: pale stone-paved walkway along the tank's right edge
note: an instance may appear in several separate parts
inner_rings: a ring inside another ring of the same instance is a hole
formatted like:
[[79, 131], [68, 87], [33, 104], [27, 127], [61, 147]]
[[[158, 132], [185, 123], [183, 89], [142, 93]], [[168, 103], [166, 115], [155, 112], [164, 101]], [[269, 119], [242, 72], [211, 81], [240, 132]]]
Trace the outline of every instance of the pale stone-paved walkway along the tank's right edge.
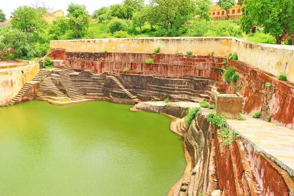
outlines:
[[[199, 107], [194, 102], [148, 101], [140, 104], [152, 106], [175, 105], [178, 107]], [[201, 108], [202, 114], [207, 115], [213, 110]], [[276, 162], [281, 168], [287, 170], [294, 177], [294, 129], [279, 126], [261, 119], [243, 115], [246, 121], [227, 120], [229, 126], [235, 129], [254, 149], [265, 154], [270, 160]]]

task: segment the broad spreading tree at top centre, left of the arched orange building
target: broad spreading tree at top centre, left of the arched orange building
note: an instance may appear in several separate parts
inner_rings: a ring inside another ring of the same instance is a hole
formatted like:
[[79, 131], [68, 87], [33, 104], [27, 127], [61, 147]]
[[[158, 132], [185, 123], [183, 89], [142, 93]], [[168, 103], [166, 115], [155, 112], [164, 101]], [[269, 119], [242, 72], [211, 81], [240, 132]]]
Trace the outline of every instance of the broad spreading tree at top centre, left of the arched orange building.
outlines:
[[169, 31], [187, 23], [195, 14], [194, 0], [150, 0], [152, 14], [158, 25], [163, 25]]

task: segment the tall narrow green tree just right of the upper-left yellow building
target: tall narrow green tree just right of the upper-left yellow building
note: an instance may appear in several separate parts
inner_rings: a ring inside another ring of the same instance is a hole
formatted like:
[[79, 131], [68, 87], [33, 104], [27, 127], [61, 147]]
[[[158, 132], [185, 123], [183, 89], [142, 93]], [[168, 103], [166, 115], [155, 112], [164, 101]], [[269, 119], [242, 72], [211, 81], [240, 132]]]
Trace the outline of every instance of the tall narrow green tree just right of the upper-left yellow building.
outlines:
[[69, 12], [69, 27], [75, 38], [81, 38], [89, 27], [90, 16], [85, 5], [71, 3], [67, 9]]

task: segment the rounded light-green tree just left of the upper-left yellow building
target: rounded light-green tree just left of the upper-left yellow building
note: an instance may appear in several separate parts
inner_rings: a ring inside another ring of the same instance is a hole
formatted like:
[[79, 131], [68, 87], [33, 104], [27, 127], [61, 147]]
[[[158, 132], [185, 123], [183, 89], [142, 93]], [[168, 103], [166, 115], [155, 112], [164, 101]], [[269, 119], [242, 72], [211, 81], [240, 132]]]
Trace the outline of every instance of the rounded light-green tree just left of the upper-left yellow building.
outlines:
[[12, 14], [11, 24], [13, 28], [25, 32], [33, 32], [38, 28], [42, 28], [47, 24], [44, 19], [46, 9], [39, 7], [38, 9], [29, 6], [18, 7]]

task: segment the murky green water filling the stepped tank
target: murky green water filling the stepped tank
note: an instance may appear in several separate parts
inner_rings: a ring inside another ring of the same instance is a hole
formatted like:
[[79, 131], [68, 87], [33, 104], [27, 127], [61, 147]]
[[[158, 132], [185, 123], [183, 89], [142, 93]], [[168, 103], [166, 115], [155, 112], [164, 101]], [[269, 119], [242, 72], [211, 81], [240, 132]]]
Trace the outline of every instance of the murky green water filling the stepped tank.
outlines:
[[182, 138], [130, 107], [1, 107], [0, 196], [166, 196], [185, 169]]

